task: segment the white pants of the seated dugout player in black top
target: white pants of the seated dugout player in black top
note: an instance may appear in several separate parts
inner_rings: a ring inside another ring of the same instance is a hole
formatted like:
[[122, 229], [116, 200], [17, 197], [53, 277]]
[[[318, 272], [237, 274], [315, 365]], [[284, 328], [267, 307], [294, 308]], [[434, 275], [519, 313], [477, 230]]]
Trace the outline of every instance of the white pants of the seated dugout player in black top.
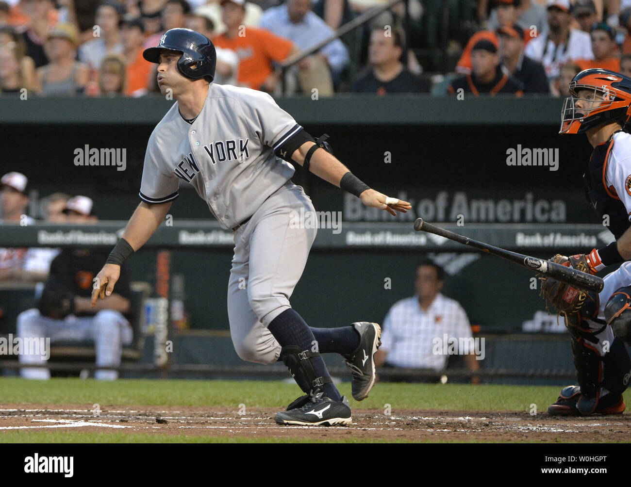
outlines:
[[[121, 365], [122, 346], [131, 343], [132, 334], [129, 322], [114, 310], [101, 310], [93, 316], [68, 315], [58, 320], [42, 316], [33, 308], [21, 312], [17, 322], [17, 335], [21, 339], [50, 338], [51, 344], [58, 341], [93, 341], [97, 366], [100, 367]], [[46, 361], [42, 353], [21, 354], [18, 358], [25, 365], [41, 365]], [[21, 368], [20, 375], [24, 378], [47, 379], [50, 378], [50, 370], [42, 367]], [[115, 370], [95, 372], [95, 378], [100, 380], [114, 380], [117, 377], [118, 372]]]

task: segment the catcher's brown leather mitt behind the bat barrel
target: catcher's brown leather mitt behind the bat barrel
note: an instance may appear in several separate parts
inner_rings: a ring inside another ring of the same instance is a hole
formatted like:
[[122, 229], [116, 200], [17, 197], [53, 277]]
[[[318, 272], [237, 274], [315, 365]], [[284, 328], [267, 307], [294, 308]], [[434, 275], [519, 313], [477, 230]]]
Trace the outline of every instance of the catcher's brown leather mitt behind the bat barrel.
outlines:
[[[550, 261], [561, 264], [562, 266], [573, 267], [584, 273], [589, 273], [589, 265], [587, 264], [585, 255], [582, 254], [572, 255], [572, 257], [557, 254], [554, 255]], [[579, 310], [581, 310], [585, 303], [587, 291], [557, 281], [557, 279], [546, 276], [545, 274], [538, 274], [538, 278], [541, 280], [540, 296], [543, 296], [546, 300], [546, 308], [547, 305], [550, 304], [555, 308], [558, 315], [565, 317], [566, 323], [574, 322], [578, 317]]]

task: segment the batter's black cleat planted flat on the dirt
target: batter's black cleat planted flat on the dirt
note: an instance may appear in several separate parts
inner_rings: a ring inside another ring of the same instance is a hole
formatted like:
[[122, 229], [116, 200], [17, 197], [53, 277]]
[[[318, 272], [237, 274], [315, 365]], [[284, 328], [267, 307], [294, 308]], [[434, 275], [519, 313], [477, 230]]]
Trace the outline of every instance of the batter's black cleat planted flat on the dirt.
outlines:
[[317, 392], [304, 406], [276, 413], [274, 421], [280, 425], [350, 425], [351, 408], [346, 396], [342, 396], [341, 401], [333, 401], [324, 393]]

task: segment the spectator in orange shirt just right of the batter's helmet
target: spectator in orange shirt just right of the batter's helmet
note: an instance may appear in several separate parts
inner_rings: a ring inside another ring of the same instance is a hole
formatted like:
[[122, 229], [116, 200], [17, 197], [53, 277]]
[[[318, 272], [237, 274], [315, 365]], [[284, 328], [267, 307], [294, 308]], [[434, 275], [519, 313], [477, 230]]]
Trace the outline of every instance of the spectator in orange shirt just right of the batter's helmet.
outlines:
[[232, 49], [239, 56], [237, 81], [240, 86], [273, 93], [278, 86], [280, 70], [274, 71], [273, 62], [281, 62], [297, 48], [293, 42], [252, 26], [245, 26], [245, 0], [223, 0], [222, 20], [226, 32], [213, 38], [223, 49]]

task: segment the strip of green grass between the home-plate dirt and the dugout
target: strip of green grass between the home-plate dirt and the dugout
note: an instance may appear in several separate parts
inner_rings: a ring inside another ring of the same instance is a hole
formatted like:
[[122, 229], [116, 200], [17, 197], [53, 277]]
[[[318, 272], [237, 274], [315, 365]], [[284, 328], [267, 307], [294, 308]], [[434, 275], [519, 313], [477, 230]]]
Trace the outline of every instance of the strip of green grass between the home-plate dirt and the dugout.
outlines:
[[[378, 383], [362, 402], [351, 407], [474, 411], [539, 411], [561, 389], [553, 386]], [[350, 383], [339, 387], [350, 397]], [[295, 384], [280, 381], [141, 380], [115, 382], [54, 378], [49, 381], [0, 378], [0, 404], [95, 404], [130, 406], [201, 406], [278, 408], [300, 395]], [[628, 396], [627, 396], [628, 397]]]

